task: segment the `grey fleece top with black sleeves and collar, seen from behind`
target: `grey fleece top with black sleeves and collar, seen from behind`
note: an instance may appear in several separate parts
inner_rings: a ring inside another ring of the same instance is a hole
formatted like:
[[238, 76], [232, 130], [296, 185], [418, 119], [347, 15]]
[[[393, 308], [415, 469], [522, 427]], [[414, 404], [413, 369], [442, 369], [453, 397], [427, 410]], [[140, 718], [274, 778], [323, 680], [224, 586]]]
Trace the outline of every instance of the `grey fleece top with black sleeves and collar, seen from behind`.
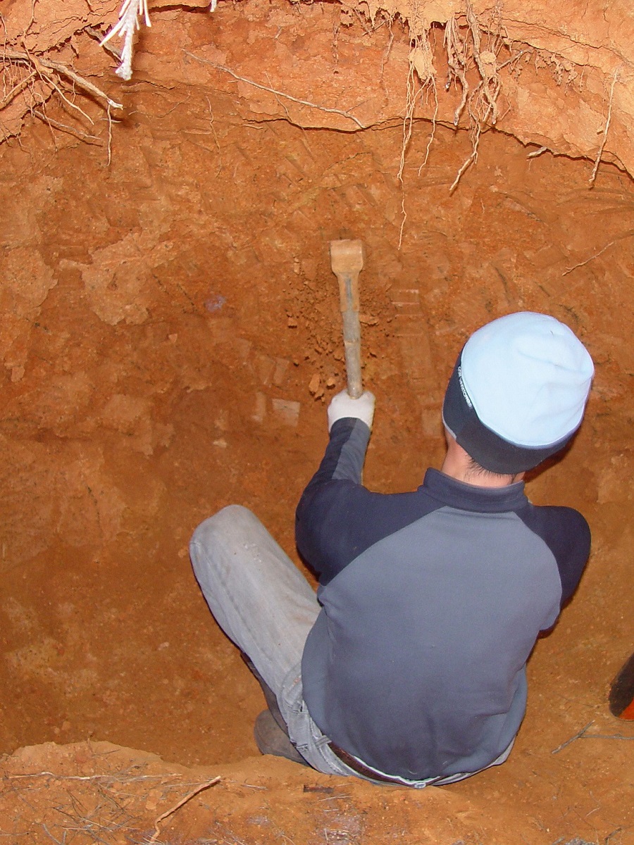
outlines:
[[576, 510], [536, 507], [523, 482], [478, 488], [429, 469], [413, 493], [361, 484], [369, 428], [331, 428], [298, 504], [320, 579], [303, 695], [332, 742], [389, 775], [488, 766], [524, 717], [526, 662], [588, 559]]

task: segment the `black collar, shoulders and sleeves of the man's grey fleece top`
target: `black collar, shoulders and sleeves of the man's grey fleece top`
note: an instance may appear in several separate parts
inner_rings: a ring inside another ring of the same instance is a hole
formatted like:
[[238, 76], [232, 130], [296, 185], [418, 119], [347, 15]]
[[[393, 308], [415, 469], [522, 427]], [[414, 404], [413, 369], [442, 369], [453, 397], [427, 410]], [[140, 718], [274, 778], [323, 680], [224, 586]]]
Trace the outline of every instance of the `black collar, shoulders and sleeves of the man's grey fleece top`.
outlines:
[[514, 512], [541, 537], [560, 572], [562, 603], [577, 588], [590, 552], [588, 523], [577, 510], [535, 507], [523, 482], [478, 488], [429, 469], [411, 493], [372, 493], [361, 482], [369, 428], [347, 417], [331, 428], [320, 467], [299, 500], [295, 537], [304, 561], [325, 586], [352, 560], [384, 537], [442, 507], [477, 513]]

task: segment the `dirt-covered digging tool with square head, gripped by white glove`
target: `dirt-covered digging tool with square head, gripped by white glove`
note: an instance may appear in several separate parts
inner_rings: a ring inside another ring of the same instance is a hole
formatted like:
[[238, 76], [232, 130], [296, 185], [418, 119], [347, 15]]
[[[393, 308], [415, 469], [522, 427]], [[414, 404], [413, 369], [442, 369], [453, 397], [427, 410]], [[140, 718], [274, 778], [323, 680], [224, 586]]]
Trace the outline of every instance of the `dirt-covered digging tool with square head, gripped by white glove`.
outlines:
[[353, 399], [363, 393], [361, 383], [361, 329], [358, 321], [358, 275], [365, 257], [361, 241], [331, 241], [332, 272], [339, 280], [339, 299], [346, 353], [347, 392]]

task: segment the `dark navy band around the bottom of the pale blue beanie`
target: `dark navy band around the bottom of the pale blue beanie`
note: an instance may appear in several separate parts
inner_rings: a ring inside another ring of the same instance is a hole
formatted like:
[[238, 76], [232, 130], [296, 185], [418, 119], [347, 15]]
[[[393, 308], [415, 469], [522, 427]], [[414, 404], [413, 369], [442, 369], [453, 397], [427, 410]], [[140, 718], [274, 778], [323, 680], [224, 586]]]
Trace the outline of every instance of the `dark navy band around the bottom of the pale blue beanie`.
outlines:
[[480, 422], [462, 382], [461, 364], [462, 353], [447, 386], [442, 418], [457, 444], [485, 470], [500, 475], [516, 475], [517, 472], [533, 469], [563, 449], [571, 439], [572, 434], [568, 434], [558, 443], [533, 449], [501, 438]]

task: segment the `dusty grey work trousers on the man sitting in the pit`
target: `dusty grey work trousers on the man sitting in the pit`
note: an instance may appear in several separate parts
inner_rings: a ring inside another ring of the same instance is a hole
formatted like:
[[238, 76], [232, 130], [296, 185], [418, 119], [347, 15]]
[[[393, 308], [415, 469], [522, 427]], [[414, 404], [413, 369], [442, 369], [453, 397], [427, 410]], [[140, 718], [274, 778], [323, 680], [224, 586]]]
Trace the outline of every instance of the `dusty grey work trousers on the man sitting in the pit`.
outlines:
[[[216, 622], [275, 694], [289, 739], [304, 760], [326, 774], [363, 777], [331, 750], [303, 701], [303, 646], [320, 605], [292, 560], [250, 510], [235, 504], [198, 526], [189, 553]], [[504, 762], [511, 746], [491, 765]], [[422, 788], [472, 774], [394, 782]]]

